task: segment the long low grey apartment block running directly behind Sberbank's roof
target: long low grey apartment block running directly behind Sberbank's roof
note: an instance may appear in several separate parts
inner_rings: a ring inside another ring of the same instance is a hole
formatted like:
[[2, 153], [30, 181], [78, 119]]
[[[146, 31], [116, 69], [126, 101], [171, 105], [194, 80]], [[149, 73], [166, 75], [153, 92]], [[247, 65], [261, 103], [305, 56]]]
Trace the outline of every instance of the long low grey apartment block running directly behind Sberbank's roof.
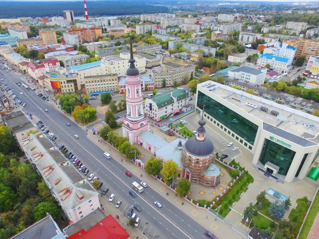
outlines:
[[238, 86], [241, 91], [253, 90], [254, 93], [262, 98], [271, 100], [273, 102], [281, 102], [282, 105], [288, 106], [293, 109], [297, 109], [303, 112], [311, 113], [316, 109], [319, 109], [319, 103], [313, 100], [303, 99], [297, 96], [289, 95], [287, 93], [272, 90], [264, 86], [257, 86], [249, 82], [241, 82], [229, 77], [224, 78], [224, 84], [227, 86]]

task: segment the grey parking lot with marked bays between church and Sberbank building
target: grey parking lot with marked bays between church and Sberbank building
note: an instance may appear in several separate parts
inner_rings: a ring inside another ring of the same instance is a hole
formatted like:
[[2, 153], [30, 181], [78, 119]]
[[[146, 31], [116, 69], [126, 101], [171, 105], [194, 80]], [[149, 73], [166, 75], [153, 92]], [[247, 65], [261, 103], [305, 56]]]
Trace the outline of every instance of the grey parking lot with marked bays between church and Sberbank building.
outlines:
[[[200, 120], [201, 116], [199, 115], [199, 111], [192, 113], [190, 115], [187, 115], [183, 118], [183, 120], [187, 121], [186, 126], [190, 131], [197, 130], [198, 128], [198, 120]], [[218, 152], [218, 155], [221, 156], [222, 154], [228, 155], [228, 157], [225, 159], [225, 161], [228, 163], [241, 155], [241, 148], [239, 147], [239, 144], [234, 141], [234, 145], [231, 147], [227, 147], [227, 144], [230, 142], [226, 139], [225, 135], [216, 129], [216, 131], [213, 129], [215, 126], [213, 126], [210, 122], [206, 120], [206, 125], [204, 126], [206, 133], [205, 137], [209, 138], [215, 147], [215, 152]], [[238, 147], [239, 150], [233, 151], [232, 149], [234, 147]]]

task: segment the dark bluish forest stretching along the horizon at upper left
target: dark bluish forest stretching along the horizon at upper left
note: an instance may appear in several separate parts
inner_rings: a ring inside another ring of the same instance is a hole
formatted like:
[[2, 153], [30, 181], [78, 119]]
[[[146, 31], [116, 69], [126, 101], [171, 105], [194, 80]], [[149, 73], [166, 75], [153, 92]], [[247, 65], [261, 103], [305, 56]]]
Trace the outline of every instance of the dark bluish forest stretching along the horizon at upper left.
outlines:
[[[147, 1], [86, 1], [89, 16], [135, 15], [168, 12], [164, 6], [149, 5]], [[85, 16], [83, 1], [0, 1], [1, 18], [62, 16], [63, 10], [73, 10], [74, 16]]]

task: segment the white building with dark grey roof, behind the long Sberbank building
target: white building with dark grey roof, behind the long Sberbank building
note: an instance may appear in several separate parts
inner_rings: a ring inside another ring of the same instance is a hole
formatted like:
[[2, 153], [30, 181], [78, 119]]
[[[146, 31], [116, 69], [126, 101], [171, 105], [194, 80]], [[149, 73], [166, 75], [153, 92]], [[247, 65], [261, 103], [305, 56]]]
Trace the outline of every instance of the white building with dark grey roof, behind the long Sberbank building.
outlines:
[[256, 69], [248, 66], [240, 66], [228, 71], [228, 77], [241, 82], [249, 82], [255, 85], [263, 85], [267, 74], [267, 68]]

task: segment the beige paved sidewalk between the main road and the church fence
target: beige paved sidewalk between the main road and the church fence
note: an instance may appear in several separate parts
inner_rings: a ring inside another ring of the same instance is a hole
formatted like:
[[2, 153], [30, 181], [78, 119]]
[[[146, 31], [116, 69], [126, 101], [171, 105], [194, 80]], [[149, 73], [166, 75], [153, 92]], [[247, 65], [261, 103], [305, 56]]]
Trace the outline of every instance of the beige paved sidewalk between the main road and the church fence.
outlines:
[[[204, 227], [206, 227], [208, 230], [210, 230], [217, 236], [222, 238], [236, 238], [236, 239], [243, 237], [241, 234], [239, 234], [237, 231], [232, 229], [229, 225], [227, 225], [223, 221], [220, 221], [220, 220], [215, 221], [216, 217], [210, 212], [207, 212], [206, 210], [192, 206], [181, 197], [176, 197], [174, 195], [174, 192], [171, 191], [171, 189], [163, 185], [158, 180], [154, 180], [152, 176], [146, 174], [145, 171], [137, 167], [135, 164], [130, 164], [129, 160], [126, 161], [127, 158], [125, 156], [123, 156], [120, 152], [118, 152], [116, 149], [111, 147], [108, 143], [99, 142], [100, 138], [97, 135], [93, 135], [92, 132], [89, 132], [88, 138], [91, 141], [93, 141], [95, 144], [97, 144], [100, 148], [102, 148], [103, 150], [108, 151], [108, 153], [112, 155], [119, 163], [121, 163], [121, 160], [123, 159], [122, 164], [131, 173], [134, 173], [136, 175], [141, 175], [141, 174], [145, 175], [142, 177], [141, 181], [145, 181], [149, 186], [156, 189], [157, 192], [161, 193], [164, 197], [169, 199], [175, 206], [179, 207], [181, 210], [187, 213], [190, 217], [194, 218], [196, 221], [201, 223]], [[170, 192], [169, 196], [166, 196], [167, 192]], [[182, 203], [184, 203], [184, 205], [182, 205]], [[132, 236], [132, 238], [134, 237]]]

